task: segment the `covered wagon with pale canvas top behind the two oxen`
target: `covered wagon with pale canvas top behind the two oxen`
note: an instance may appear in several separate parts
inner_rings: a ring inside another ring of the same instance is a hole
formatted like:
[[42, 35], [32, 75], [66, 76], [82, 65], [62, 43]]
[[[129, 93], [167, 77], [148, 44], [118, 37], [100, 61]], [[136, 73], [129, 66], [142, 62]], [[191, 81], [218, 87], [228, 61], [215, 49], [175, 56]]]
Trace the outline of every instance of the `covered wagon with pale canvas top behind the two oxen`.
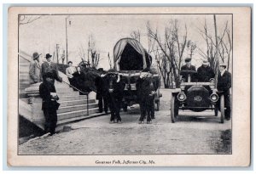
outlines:
[[[113, 48], [113, 69], [119, 72], [122, 80], [125, 81], [125, 91], [123, 98], [123, 109], [127, 106], [138, 104], [136, 83], [141, 72], [146, 68], [151, 68], [152, 57], [143, 48], [140, 42], [133, 38], [120, 39]], [[151, 71], [156, 83], [154, 97], [155, 109], [160, 108], [160, 76], [156, 70]]]

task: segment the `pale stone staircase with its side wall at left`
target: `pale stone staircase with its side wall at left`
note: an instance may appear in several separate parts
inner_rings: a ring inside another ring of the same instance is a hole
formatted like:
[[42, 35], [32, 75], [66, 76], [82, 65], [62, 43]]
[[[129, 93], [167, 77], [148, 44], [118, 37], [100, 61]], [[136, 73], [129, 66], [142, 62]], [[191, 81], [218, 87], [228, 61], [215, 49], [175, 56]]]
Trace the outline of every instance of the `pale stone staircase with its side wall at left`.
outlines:
[[[22, 54], [23, 55], [23, 54]], [[27, 58], [27, 56], [24, 56]], [[31, 57], [28, 57], [31, 59]], [[28, 104], [28, 98], [25, 93], [25, 88], [30, 87], [29, 83], [29, 65], [30, 62], [20, 56], [19, 58], [19, 94], [20, 98], [22, 98], [22, 103], [26, 104], [30, 107], [35, 107], [32, 109], [32, 112], [35, 115], [32, 115], [30, 121], [32, 121], [35, 125], [44, 129], [44, 113], [41, 110], [42, 102], [35, 102], [33, 104]], [[67, 76], [61, 72], [59, 75], [62, 77], [63, 81], [69, 82]], [[57, 110], [58, 115], [58, 125], [65, 125], [71, 121], [79, 121], [86, 118], [90, 118], [91, 116], [101, 115], [96, 113], [98, 111], [97, 103], [94, 94], [90, 93], [90, 99], [88, 99], [87, 105], [87, 96], [79, 95], [79, 91], [73, 91], [72, 87], [69, 87], [65, 82], [55, 81], [55, 89], [60, 98], [58, 101], [61, 105]], [[91, 99], [93, 98], [93, 99]], [[38, 98], [40, 100], [40, 98]], [[88, 113], [87, 113], [88, 106]], [[89, 115], [88, 115], [89, 114]]]

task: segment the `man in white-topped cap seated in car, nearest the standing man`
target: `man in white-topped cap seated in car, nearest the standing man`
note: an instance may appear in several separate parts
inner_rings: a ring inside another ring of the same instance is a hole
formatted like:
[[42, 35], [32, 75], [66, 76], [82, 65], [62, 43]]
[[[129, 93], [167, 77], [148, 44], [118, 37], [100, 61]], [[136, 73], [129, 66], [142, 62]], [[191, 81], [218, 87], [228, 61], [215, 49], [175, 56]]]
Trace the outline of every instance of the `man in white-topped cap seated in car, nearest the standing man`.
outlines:
[[215, 73], [209, 66], [209, 62], [204, 60], [201, 67], [197, 69], [197, 80], [201, 82], [208, 82], [211, 78], [215, 77]]

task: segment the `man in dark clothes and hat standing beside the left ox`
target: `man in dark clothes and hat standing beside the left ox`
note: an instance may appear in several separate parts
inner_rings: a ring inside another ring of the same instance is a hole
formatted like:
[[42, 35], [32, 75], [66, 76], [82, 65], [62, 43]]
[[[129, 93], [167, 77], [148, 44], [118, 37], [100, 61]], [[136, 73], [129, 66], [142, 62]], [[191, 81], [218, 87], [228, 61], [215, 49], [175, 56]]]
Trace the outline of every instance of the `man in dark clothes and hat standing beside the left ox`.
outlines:
[[104, 81], [102, 77], [104, 76], [103, 68], [98, 69], [100, 76], [97, 76], [95, 79], [95, 86], [96, 86], [96, 99], [99, 100], [98, 107], [99, 112], [102, 113], [103, 111], [103, 103], [104, 103], [104, 111], [108, 114], [108, 97], [107, 97], [107, 87], [104, 85]]

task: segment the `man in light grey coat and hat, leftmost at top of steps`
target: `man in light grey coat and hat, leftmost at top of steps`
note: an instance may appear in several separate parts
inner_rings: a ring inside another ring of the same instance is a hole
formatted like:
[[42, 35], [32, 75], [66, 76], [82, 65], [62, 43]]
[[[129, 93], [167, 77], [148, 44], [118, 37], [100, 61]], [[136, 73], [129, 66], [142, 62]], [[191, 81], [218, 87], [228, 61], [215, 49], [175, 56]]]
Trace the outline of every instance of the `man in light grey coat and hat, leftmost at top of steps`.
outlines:
[[38, 83], [40, 82], [40, 58], [41, 54], [38, 54], [37, 52], [33, 53], [33, 60], [30, 62], [29, 65], [29, 81], [30, 84]]

